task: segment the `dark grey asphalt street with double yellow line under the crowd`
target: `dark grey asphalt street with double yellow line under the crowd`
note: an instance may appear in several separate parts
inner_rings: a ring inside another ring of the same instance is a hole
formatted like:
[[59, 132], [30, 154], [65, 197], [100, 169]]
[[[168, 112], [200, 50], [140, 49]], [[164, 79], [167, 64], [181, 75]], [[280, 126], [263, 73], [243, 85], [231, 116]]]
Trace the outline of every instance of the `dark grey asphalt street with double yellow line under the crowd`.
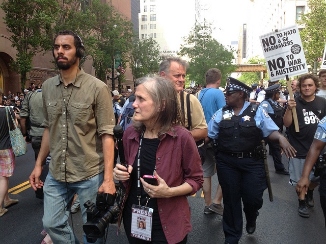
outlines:
[[[31, 144], [28, 153], [16, 158], [14, 175], [9, 179], [10, 197], [19, 203], [8, 208], [8, 212], [0, 217], [0, 243], [3, 244], [39, 244], [42, 241], [43, 204], [35, 198], [34, 190], [29, 185], [29, 175], [34, 168], [34, 152]], [[287, 159], [283, 162], [287, 167]], [[318, 190], [314, 191], [315, 207], [310, 217], [303, 218], [297, 213], [298, 201], [295, 188], [288, 184], [289, 177], [275, 174], [273, 159], [268, 158], [274, 201], [270, 202], [267, 190], [264, 192], [264, 204], [259, 211], [257, 229], [252, 235], [246, 232], [246, 221], [243, 223], [243, 235], [239, 243], [325, 243], [326, 231], [324, 217], [319, 203]], [[217, 178], [213, 177], [213, 191]], [[214, 193], [214, 192], [213, 192]], [[204, 214], [202, 191], [196, 196], [188, 197], [192, 208], [193, 231], [188, 234], [189, 244], [224, 242], [222, 216]], [[80, 211], [72, 214], [73, 228], [81, 243], [82, 222]], [[128, 243], [123, 226], [117, 236], [117, 225], [108, 226], [106, 243]]]

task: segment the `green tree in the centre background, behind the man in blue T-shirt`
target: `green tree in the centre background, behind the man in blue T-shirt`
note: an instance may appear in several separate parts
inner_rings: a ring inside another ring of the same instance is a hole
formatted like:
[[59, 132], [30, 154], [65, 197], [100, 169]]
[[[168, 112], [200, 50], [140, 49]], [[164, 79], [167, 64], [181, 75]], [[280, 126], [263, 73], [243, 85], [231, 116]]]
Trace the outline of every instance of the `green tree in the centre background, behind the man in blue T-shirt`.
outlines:
[[[220, 69], [224, 77], [229, 76], [236, 69], [236, 66], [232, 65], [234, 59], [232, 50], [228, 51], [225, 46], [212, 38], [211, 34], [211, 25], [205, 21], [203, 25], [196, 22], [189, 35], [183, 37], [184, 44], [181, 44], [179, 55], [190, 60], [187, 76], [196, 84], [206, 84], [205, 73], [209, 68]], [[225, 79], [222, 79], [221, 86], [223, 87], [225, 83]]]

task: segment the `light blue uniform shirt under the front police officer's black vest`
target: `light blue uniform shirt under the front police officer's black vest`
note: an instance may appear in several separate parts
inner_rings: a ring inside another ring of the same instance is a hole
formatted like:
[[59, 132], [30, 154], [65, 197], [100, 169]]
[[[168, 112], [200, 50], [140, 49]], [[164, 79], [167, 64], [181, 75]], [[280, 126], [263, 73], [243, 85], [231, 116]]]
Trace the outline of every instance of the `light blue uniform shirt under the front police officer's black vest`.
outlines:
[[[250, 104], [251, 104], [250, 102], [244, 102], [244, 105], [243, 105], [238, 116], [241, 116], [243, 111], [246, 110]], [[223, 110], [223, 108], [216, 111], [207, 125], [208, 126], [208, 137], [211, 139], [218, 139], [218, 137], [219, 137], [220, 122], [223, 117], [222, 110]], [[251, 118], [250, 116], [246, 116], [246, 118], [243, 117], [243, 119], [253, 119], [253, 118]], [[273, 131], [279, 130], [278, 126], [270, 118], [267, 111], [264, 108], [262, 108], [261, 106], [259, 106], [257, 108], [257, 112], [256, 112], [254, 119], [256, 121], [256, 126], [262, 130], [263, 137], [267, 137]]]

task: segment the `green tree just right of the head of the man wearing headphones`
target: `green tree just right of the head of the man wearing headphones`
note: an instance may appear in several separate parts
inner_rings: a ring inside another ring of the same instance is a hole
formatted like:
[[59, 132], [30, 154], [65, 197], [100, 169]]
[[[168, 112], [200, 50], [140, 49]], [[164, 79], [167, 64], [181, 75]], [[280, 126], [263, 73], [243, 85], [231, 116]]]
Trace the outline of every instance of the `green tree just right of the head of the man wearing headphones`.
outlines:
[[126, 54], [133, 40], [132, 23], [122, 18], [114, 7], [102, 4], [99, 0], [92, 1], [90, 13], [92, 32], [86, 37], [88, 54], [93, 59], [96, 77], [106, 81], [107, 71], [114, 67], [116, 51], [121, 52], [122, 63], [128, 61]]

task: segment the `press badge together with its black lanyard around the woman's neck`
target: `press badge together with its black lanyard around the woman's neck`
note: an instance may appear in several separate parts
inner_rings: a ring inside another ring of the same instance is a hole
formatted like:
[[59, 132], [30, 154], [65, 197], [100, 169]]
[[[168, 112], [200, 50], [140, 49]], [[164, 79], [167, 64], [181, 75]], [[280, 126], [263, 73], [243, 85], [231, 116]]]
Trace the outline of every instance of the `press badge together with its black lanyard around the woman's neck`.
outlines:
[[146, 241], [151, 241], [152, 239], [152, 208], [147, 207], [147, 203], [150, 200], [150, 197], [146, 196], [145, 206], [141, 206], [141, 148], [145, 131], [142, 131], [139, 142], [138, 156], [137, 156], [137, 197], [138, 205], [133, 204], [131, 208], [131, 231], [130, 236], [139, 238]]

